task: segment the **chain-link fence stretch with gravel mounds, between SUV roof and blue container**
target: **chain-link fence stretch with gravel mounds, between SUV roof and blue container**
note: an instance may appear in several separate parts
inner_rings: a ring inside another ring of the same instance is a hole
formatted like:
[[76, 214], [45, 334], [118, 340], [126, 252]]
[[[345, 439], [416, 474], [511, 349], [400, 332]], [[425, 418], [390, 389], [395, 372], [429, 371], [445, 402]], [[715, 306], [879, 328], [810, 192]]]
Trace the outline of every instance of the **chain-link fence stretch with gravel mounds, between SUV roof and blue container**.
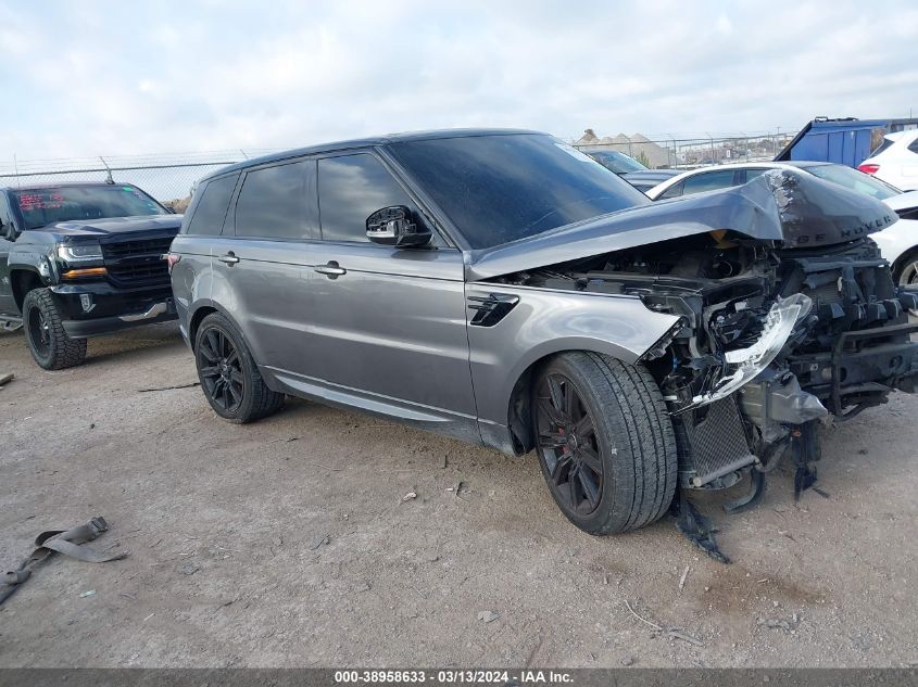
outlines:
[[592, 129], [574, 141], [581, 151], [617, 151], [651, 169], [691, 169], [706, 165], [774, 160], [790, 142], [787, 133], [678, 138], [640, 133], [598, 137]]

